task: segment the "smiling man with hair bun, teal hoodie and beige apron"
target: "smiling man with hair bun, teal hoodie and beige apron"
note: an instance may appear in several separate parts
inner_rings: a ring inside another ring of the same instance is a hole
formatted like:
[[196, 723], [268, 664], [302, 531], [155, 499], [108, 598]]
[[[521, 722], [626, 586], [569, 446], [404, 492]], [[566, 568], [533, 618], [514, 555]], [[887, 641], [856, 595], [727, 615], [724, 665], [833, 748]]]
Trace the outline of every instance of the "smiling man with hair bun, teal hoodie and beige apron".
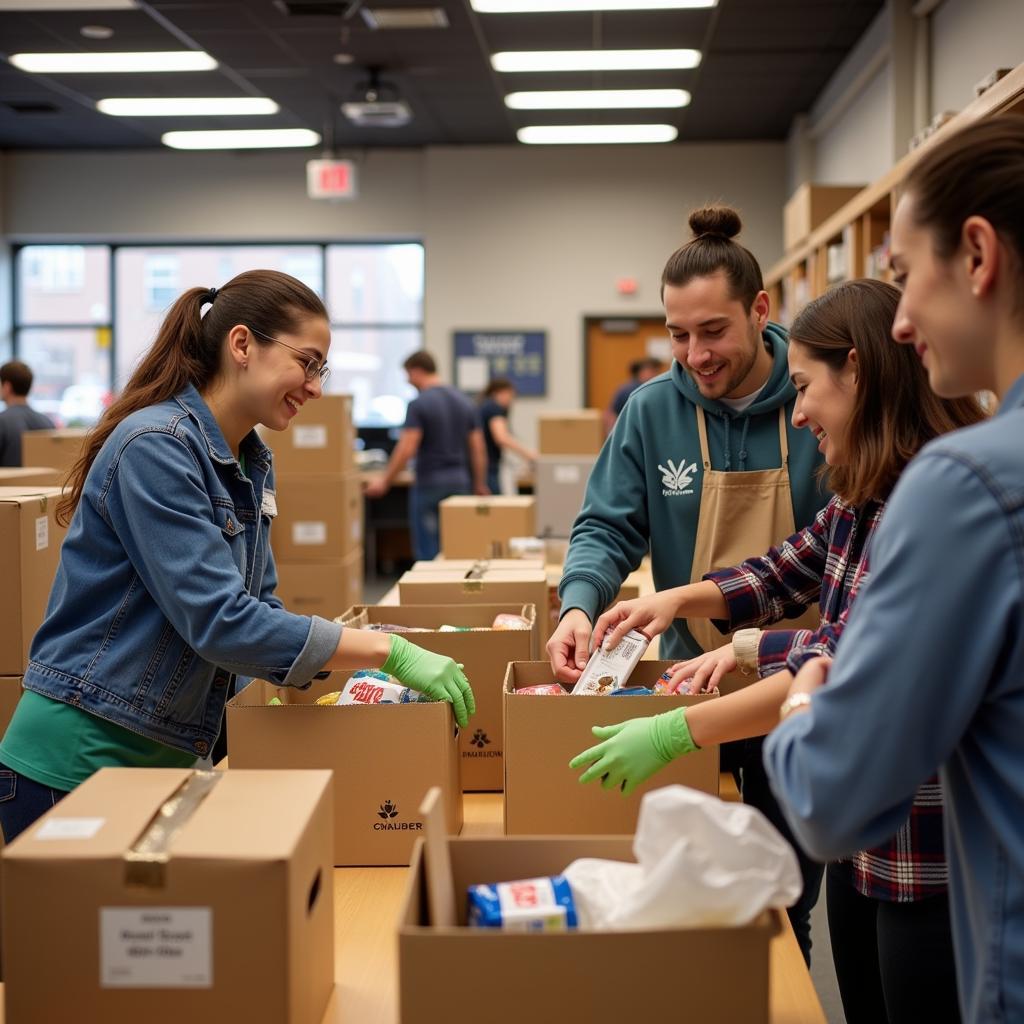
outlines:
[[[689, 225], [693, 238], [662, 274], [672, 368], [630, 396], [572, 528], [559, 587], [562, 617], [548, 643], [552, 669], [566, 683], [580, 678], [595, 620], [648, 549], [657, 590], [697, 583], [807, 526], [827, 502], [816, 479], [819, 439], [792, 424], [785, 331], [768, 319], [757, 260], [734, 241], [739, 215], [707, 207]], [[807, 625], [816, 628], [817, 617]], [[676, 620], [662, 637], [662, 656], [695, 657], [720, 646], [728, 628]], [[761, 740], [727, 744], [723, 763], [729, 760], [743, 800], [788, 836], [767, 786]], [[822, 868], [798, 855], [804, 895], [790, 916], [809, 959]]]

